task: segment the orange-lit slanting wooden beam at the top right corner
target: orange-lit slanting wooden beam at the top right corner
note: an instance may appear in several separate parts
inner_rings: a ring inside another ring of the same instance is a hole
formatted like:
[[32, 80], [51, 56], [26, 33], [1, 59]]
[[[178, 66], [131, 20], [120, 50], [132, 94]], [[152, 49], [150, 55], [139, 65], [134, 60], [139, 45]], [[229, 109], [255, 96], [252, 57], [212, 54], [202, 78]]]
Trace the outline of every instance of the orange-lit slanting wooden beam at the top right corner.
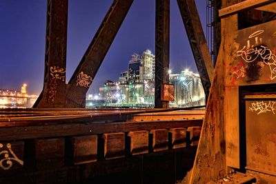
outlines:
[[246, 0], [240, 3], [236, 3], [233, 6], [228, 6], [219, 10], [219, 17], [224, 17], [229, 14], [235, 14], [251, 8], [259, 8], [265, 6], [268, 3], [273, 3], [276, 0]]

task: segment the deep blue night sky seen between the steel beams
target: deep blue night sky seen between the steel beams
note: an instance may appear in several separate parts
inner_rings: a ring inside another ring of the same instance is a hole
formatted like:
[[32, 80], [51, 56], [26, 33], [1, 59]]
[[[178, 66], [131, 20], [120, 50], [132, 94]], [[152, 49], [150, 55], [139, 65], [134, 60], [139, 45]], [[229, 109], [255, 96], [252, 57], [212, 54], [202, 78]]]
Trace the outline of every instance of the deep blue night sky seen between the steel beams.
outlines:
[[[206, 1], [196, 0], [206, 29]], [[67, 74], [69, 81], [112, 0], [69, 0]], [[0, 0], [0, 89], [39, 94], [43, 87], [46, 0]], [[116, 81], [134, 52], [155, 50], [155, 0], [135, 0], [88, 93], [106, 79]], [[177, 1], [170, 1], [170, 68], [197, 72]]]

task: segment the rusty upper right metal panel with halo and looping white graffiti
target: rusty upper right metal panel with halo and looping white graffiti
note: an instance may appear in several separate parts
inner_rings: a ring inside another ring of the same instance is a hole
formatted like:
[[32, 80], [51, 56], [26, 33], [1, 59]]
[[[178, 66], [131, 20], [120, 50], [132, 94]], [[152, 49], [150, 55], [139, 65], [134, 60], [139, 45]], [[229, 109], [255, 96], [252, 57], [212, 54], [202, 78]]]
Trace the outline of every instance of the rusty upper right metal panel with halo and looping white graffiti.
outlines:
[[276, 82], [276, 21], [239, 30], [233, 59], [226, 61], [226, 85]]

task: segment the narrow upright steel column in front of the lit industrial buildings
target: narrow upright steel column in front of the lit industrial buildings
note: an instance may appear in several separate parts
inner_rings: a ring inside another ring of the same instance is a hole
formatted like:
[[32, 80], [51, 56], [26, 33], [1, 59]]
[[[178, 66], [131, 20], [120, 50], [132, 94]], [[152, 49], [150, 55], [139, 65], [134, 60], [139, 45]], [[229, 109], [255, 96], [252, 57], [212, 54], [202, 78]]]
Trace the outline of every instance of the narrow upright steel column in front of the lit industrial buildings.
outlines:
[[168, 108], [161, 85], [169, 83], [170, 0], [156, 0], [155, 8], [155, 108]]

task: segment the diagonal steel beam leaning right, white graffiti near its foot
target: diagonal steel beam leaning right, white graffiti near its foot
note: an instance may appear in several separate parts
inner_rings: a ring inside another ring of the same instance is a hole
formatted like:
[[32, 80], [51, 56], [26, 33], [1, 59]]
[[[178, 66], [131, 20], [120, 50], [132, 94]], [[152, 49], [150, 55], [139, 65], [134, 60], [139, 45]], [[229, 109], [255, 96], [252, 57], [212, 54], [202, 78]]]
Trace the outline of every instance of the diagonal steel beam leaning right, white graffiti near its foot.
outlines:
[[66, 108], [85, 108], [86, 92], [124, 21], [133, 0], [113, 1], [66, 90]]

